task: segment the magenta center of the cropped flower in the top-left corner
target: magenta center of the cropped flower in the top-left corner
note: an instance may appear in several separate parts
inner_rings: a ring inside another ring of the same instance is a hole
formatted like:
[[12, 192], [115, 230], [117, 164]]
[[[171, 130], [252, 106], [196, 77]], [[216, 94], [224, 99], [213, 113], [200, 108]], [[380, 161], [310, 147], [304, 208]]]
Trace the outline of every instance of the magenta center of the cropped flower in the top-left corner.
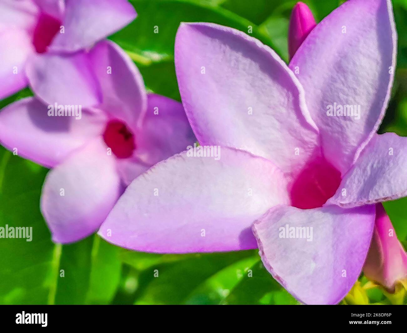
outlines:
[[51, 41], [59, 31], [61, 21], [48, 14], [41, 13], [34, 29], [33, 44], [38, 53], [46, 52]]

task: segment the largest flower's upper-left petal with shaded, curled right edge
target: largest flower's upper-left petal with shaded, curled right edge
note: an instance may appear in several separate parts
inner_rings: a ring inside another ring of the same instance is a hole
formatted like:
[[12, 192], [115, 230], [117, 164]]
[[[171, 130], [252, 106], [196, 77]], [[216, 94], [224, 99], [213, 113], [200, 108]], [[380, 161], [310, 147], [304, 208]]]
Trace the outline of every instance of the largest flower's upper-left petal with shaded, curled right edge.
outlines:
[[313, 154], [317, 132], [309, 124], [303, 89], [257, 39], [217, 24], [181, 24], [175, 68], [200, 144], [247, 150], [287, 172]]

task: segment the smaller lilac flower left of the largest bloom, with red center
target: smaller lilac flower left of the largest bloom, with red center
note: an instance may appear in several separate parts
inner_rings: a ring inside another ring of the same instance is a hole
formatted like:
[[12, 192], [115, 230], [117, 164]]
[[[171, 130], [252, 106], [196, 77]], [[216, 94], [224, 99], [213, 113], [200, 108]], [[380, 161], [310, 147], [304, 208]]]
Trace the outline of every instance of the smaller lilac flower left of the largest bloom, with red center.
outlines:
[[78, 117], [50, 116], [33, 97], [0, 112], [1, 144], [53, 168], [41, 210], [59, 243], [96, 231], [125, 186], [196, 140], [182, 104], [146, 94], [137, 67], [116, 44], [101, 41], [88, 56], [103, 103]]

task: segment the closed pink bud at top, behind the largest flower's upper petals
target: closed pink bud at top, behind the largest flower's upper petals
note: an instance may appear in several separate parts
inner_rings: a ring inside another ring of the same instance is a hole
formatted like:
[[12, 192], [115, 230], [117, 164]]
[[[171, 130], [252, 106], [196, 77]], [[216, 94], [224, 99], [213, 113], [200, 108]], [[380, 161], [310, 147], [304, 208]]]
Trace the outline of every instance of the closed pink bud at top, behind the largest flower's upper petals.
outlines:
[[308, 6], [303, 2], [297, 2], [291, 12], [288, 31], [288, 53], [290, 59], [316, 25], [317, 23]]

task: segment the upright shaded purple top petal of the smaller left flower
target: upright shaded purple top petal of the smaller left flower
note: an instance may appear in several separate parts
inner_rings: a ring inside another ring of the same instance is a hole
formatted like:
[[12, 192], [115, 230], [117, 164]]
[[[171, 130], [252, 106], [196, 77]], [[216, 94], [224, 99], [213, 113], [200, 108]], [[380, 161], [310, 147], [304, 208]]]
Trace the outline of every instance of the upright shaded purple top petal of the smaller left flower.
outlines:
[[136, 128], [147, 107], [147, 93], [138, 68], [112, 41], [101, 41], [89, 56], [101, 85], [103, 104], [99, 108]]

